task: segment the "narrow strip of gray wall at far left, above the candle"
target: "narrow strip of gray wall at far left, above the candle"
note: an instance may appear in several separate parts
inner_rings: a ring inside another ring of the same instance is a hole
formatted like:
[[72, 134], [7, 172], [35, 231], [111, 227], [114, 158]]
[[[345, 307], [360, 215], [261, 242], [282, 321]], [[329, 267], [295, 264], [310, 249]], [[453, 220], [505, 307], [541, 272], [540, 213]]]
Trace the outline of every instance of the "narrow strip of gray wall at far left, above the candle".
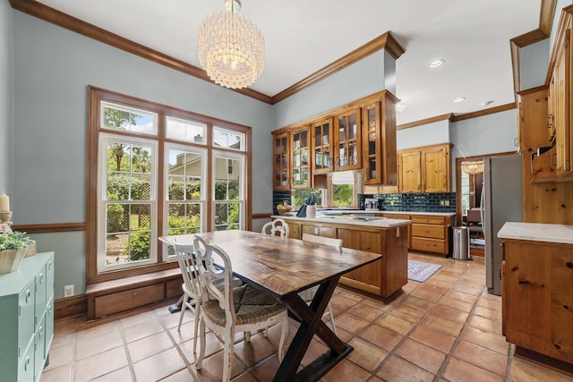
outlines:
[[0, 2], [0, 193], [13, 195], [12, 167], [13, 130], [13, 11], [7, 1]]

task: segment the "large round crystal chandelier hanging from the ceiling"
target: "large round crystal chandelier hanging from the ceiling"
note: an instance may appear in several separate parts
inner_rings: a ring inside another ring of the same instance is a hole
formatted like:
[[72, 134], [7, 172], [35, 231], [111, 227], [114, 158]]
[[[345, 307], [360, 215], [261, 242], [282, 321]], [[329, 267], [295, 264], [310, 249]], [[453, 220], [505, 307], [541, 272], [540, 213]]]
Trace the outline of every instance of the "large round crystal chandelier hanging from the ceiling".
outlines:
[[265, 39], [255, 24], [238, 13], [239, 0], [225, 0], [225, 9], [201, 22], [199, 64], [215, 83], [245, 88], [264, 69]]

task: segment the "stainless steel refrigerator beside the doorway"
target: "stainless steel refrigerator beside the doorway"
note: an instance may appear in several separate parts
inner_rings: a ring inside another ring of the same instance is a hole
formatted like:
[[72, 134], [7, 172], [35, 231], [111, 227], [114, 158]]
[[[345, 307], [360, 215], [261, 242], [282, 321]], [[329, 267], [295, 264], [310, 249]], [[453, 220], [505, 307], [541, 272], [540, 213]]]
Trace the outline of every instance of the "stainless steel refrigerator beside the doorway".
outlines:
[[483, 158], [482, 228], [485, 286], [501, 295], [503, 253], [498, 232], [505, 222], [523, 221], [521, 155]]

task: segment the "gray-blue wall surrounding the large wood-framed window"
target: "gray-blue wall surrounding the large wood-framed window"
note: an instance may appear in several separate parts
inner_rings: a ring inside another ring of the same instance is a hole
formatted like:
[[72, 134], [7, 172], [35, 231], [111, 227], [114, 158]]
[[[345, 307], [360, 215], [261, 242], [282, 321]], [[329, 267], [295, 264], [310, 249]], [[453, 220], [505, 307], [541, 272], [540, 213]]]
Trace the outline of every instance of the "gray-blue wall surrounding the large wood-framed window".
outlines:
[[[271, 106], [17, 11], [13, 40], [15, 224], [85, 222], [89, 85], [252, 126], [252, 211], [269, 211]], [[85, 293], [84, 234], [32, 237], [56, 251], [56, 299]]]

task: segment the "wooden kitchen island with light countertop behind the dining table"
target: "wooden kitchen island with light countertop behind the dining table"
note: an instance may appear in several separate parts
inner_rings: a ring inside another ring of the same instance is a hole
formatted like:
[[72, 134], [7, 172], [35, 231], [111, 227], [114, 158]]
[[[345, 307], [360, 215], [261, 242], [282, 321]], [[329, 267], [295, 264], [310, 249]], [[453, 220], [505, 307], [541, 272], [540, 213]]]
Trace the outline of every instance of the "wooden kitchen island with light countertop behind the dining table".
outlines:
[[301, 239], [303, 233], [342, 239], [342, 246], [380, 253], [381, 259], [340, 277], [340, 284], [389, 301], [402, 291], [408, 277], [408, 226], [410, 220], [381, 216], [271, 216], [284, 218], [290, 237]]

